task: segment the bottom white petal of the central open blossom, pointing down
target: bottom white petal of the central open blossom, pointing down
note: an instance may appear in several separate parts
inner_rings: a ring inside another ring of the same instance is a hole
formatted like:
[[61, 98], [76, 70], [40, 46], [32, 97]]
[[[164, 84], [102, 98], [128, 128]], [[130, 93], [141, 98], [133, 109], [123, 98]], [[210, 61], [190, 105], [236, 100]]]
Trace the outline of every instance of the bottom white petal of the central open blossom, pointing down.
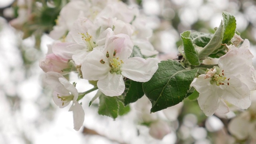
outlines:
[[121, 74], [108, 72], [108, 76], [97, 82], [99, 90], [106, 96], [120, 96], [124, 92], [124, 80]]

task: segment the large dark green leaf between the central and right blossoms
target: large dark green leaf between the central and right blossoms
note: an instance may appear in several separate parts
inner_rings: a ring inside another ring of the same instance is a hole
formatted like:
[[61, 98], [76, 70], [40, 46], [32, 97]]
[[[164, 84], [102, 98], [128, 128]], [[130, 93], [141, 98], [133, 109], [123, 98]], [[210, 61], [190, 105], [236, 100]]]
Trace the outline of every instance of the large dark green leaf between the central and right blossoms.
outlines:
[[157, 112], [180, 103], [188, 93], [198, 69], [187, 70], [174, 60], [162, 61], [151, 80], [142, 84], [152, 103], [151, 112]]

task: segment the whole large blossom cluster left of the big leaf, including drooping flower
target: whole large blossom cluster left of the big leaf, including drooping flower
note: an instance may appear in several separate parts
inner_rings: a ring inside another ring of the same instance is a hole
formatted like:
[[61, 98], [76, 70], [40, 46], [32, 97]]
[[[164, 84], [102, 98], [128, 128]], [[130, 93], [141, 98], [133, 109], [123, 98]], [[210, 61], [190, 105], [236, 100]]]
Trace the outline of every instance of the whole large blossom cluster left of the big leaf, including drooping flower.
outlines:
[[158, 52], [148, 41], [152, 30], [143, 24], [138, 8], [116, 0], [104, 4], [74, 0], [62, 8], [50, 32], [57, 40], [48, 46], [40, 67], [54, 89], [54, 102], [63, 108], [73, 101], [75, 130], [82, 126], [84, 111], [78, 91], [62, 74], [75, 70], [82, 78], [97, 81], [106, 96], [122, 95], [124, 78], [147, 82], [158, 69], [158, 60], [151, 58]]

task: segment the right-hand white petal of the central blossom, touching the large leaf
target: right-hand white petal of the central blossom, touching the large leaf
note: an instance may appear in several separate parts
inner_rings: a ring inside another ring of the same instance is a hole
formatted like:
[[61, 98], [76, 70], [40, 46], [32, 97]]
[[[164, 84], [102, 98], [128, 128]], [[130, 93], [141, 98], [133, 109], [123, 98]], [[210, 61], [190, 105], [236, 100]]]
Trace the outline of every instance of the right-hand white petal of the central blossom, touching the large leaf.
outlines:
[[134, 57], [124, 60], [120, 70], [126, 78], [137, 82], [147, 82], [158, 69], [158, 60], [155, 58]]

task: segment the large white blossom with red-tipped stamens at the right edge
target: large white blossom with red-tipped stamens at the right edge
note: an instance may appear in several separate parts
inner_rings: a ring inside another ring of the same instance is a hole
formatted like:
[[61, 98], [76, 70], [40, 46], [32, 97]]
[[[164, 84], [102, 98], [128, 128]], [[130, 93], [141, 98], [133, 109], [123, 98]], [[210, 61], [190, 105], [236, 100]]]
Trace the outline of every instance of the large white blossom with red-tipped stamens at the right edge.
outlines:
[[250, 91], [256, 89], [252, 57], [246, 42], [222, 56], [218, 61], [219, 68], [193, 80], [190, 86], [199, 92], [198, 104], [206, 116], [229, 112], [225, 101], [241, 109], [250, 106]]

